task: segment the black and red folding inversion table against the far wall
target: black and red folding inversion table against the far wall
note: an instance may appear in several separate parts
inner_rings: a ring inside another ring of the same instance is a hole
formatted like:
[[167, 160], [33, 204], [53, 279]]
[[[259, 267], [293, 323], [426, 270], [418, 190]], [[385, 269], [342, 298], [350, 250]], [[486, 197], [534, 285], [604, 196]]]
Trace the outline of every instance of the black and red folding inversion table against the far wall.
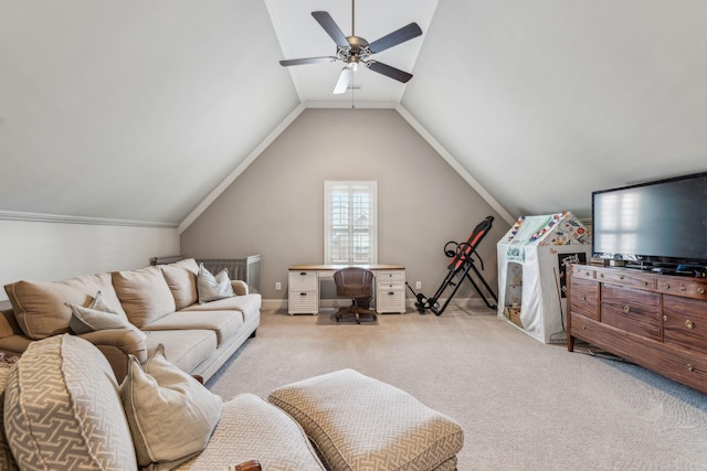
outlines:
[[[478, 271], [478, 268], [476, 268], [476, 265], [474, 265], [474, 258], [472, 258], [475, 254], [476, 258], [478, 258], [478, 261], [481, 263], [483, 270], [484, 260], [482, 260], [482, 257], [476, 251], [476, 247], [478, 247], [478, 244], [481, 244], [481, 242], [484, 239], [484, 236], [486, 236], [486, 234], [488, 234], [488, 231], [490, 231], [493, 222], [494, 216], [486, 216], [484, 221], [482, 221], [476, 225], [476, 227], [474, 227], [474, 231], [468, 236], [468, 239], [466, 242], [458, 244], [456, 242], [447, 242], [444, 245], [444, 255], [452, 258], [452, 261], [450, 263], [450, 265], [447, 265], [447, 274], [433, 297], [428, 298], [422, 292], [415, 292], [412, 287], [405, 282], [410, 291], [412, 291], [418, 300], [415, 302], [415, 308], [418, 308], [418, 311], [424, 313], [425, 310], [430, 309], [436, 315], [442, 315], [452, 298], [454, 298], [456, 290], [460, 289], [460, 286], [462, 285], [462, 281], [464, 281], [464, 279], [468, 279], [471, 281], [472, 286], [474, 286], [474, 289], [476, 289], [476, 292], [478, 292], [478, 295], [482, 297], [489, 309], [496, 309], [498, 304], [498, 298], [494, 293], [494, 290], [488, 286], [481, 271]], [[496, 301], [496, 304], [492, 304], [488, 301], [486, 296], [482, 292], [478, 283], [474, 280], [474, 278], [472, 278], [472, 274], [469, 274], [469, 271], [473, 271], [474, 275], [476, 275], [476, 278], [486, 288], [486, 291], [494, 299], [494, 301]], [[449, 287], [453, 287], [454, 289], [444, 302], [444, 306], [442, 306], [442, 308], [440, 309], [440, 303], [437, 302], [437, 300], [440, 299], [444, 290], [446, 290]]]

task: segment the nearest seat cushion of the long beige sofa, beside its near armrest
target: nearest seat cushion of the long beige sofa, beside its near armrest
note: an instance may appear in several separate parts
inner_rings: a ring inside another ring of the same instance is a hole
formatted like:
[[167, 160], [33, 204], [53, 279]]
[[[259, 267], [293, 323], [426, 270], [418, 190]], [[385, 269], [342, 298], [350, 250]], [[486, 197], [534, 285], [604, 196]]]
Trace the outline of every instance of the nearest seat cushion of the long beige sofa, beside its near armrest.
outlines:
[[148, 356], [165, 345], [167, 360], [184, 372], [194, 371], [218, 346], [215, 332], [209, 330], [149, 331], [145, 343]]

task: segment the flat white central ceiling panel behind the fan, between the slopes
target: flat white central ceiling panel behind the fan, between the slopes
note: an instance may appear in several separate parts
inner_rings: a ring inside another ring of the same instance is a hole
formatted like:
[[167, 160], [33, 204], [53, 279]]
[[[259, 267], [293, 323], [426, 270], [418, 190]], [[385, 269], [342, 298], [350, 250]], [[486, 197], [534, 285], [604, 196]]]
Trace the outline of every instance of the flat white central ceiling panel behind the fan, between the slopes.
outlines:
[[[336, 44], [312, 17], [313, 11], [327, 11], [346, 36], [351, 35], [352, 11], [355, 33], [369, 43], [408, 23], [415, 22], [422, 36], [372, 56], [376, 61], [414, 75], [414, 65], [424, 41], [436, 0], [265, 0], [283, 51], [282, 58], [336, 55]], [[355, 7], [352, 9], [352, 7]], [[333, 95], [342, 68], [340, 62], [288, 67], [300, 101], [310, 107], [392, 106], [400, 103], [405, 85], [360, 67], [354, 77], [354, 90]]]

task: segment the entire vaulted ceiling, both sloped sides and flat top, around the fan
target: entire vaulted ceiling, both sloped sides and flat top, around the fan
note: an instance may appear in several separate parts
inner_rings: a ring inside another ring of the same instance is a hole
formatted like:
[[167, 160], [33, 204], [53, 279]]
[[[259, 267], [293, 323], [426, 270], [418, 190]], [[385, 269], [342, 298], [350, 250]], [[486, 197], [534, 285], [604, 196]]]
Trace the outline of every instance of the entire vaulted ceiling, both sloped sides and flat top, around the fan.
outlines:
[[514, 216], [707, 170], [703, 0], [0, 0], [0, 216], [178, 225], [303, 107], [395, 107]]

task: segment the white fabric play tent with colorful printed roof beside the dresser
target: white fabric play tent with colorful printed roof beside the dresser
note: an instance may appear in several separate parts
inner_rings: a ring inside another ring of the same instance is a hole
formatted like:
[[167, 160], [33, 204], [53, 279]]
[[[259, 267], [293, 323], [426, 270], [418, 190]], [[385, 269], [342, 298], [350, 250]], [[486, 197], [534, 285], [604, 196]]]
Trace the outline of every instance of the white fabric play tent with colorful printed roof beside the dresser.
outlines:
[[[591, 236], [570, 212], [520, 216], [497, 244], [498, 317], [544, 343], [563, 343], [566, 268], [591, 258]], [[504, 311], [506, 313], [504, 313]]]

